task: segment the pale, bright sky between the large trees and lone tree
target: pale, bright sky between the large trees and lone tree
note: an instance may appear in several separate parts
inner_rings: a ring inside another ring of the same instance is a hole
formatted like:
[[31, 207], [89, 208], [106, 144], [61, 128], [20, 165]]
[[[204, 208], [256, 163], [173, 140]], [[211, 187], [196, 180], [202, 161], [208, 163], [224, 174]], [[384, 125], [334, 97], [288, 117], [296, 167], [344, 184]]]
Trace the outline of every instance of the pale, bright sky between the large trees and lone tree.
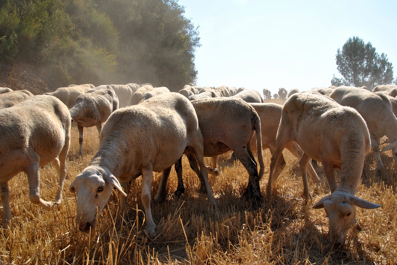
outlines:
[[197, 86], [328, 87], [349, 37], [387, 54], [397, 76], [397, 0], [179, 0], [199, 27]]

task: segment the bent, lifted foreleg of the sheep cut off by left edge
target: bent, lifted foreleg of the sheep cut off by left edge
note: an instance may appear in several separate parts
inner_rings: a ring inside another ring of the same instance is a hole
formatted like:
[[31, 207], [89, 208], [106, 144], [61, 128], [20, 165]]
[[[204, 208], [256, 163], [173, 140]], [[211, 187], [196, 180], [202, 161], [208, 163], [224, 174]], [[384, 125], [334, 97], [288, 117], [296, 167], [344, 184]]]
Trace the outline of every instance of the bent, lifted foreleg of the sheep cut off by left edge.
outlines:
[[52, 206], [55, 203], [47, 202], [40, 197], [39, 162], [33, 162], [30, 166], [25, 168], [24, 171], [27, 174], [27, 180], [29, 182], [29, 196], [31, 202], [39, 205], [46, 210], [51, 210]]

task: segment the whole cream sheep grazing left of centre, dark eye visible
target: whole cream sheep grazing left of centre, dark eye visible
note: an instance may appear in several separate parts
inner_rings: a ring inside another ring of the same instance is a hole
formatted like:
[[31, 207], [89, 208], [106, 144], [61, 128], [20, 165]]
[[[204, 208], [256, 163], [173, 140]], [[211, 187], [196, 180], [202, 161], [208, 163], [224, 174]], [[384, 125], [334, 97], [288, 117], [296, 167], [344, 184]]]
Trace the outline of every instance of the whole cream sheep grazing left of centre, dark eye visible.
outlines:
[[142, 175], [141, 199], [145, 207], [146, 231], [155, 235], [150, 210], [152, 172], [163, 171], [154, 200], [164, 198], [172, 165], [183, 153], [192, 153], [204, 176], [208, 201], [214, 205], [203, 160], [203, 140], [195, 110], [179, 93], [163, 93], [139, 105], [118, 109], [105, 122], [100, 147], [91, 163], [69, 187], [77, 193], [77, 223], [80, 231], [93, 230], [96, 215], [110, 198], [112, 187], [119, 191], [124, 211], [126, 183]]

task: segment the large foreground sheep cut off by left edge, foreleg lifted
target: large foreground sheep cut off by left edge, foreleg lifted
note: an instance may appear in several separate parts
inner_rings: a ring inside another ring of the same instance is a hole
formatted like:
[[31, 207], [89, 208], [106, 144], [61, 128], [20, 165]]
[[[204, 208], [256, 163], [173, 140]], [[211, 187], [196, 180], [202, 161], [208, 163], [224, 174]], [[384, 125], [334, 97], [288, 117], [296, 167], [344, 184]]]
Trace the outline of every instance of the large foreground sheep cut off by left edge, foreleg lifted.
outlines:
[[[0, 198], [4, 228], [12, 222], [8, 181], [19, 172], [27, 175], [32, 203], [46, 210], [60, 205], [67, 170], [70, 122], [67, 107], [48, 95], [37, 95], [0, 110]], [[40, 197], [39, 169], [49, 162], [59, 177], [55, 202], [47, 202]]]

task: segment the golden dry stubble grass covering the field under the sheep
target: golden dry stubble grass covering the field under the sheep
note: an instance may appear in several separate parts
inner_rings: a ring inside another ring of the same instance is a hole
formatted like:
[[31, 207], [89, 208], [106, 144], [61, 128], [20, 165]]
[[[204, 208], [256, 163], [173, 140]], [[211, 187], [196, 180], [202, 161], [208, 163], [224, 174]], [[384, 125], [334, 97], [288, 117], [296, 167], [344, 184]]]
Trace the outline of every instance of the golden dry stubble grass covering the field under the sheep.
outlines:
[[[86, 133], [87, 131], [87, 133]], [[328, 219], [324, 210], [311, 208], [300, 194], [301, 177], [297, 160], [285, 152], [287, 166], [272, 198], [261, 207], [241, 198], [247, 185], [247, 171], [239, 162], [220, 157], [221, 175], [210, 179], [216, 208], [208, 206], [207, 196], [198, 193], [199, 181], [183, 160], [186, 192], [173, 196], [177, 187], [172, 171], [166, 202], [152, 205], [157, 236], [148, 238], [140, 200], [141, 179], [133, 183], [127, 197], [129, 222], [119, 215], [118, 196], [112, 194], [91, 236], [78, 232], [75, 198], [68, 187], [87, 166], [98, 148], [96, 129], [85, 130], [84, 158], [78, 154], [77, 128], [72, 128], [68, 179], [60, 210], [46, 212], [31, 204], [26, 177], [10, 181], [13, 227], [0, 230], [0, 261], [16, 264], [396, 264], [397, 263], [397, 173], [392, 158], [383, 155], [387, 170], [374, 173], [374, 162], [367, 158], [357, 196], [382, 204], [374, 210], [358, 209], [362, 231], [347, 234], [346, 246], [332, 249], [328, 243]], [[267, 183], [270, 153], [265, 152]], [[321, 168], [318, 168], [320, 177]], [[40, 170], [41, 194], [51, 200], [56, 192], [54, 168]], [[152, 196], [159, 183], [154, 174]], [[310, 184], [311, 191], [315, 187]], [[328, 185], [314, 191], [314, 202], [329, 193]], [[313, 194], [313, 192], [312, 192]], [[0, 211], [1, 218], [2, 210]]]

